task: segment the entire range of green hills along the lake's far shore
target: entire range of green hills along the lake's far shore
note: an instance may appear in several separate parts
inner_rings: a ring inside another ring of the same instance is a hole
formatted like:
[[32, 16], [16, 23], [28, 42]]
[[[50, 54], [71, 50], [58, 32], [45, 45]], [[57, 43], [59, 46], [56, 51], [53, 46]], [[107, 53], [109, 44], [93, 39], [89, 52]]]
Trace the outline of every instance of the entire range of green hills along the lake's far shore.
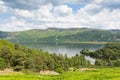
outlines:
[[0, 32], [0, 38], [13, 42], [120, 42], [120, 30], [48, 28], [45, 30]]

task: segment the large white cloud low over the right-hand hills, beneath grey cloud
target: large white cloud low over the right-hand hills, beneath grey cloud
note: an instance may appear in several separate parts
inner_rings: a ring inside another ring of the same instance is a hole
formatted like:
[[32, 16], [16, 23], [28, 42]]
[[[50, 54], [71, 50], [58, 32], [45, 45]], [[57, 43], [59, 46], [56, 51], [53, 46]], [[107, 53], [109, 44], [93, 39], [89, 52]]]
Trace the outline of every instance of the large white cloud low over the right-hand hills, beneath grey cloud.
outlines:
[[98, 14], [90, 15], [84, 9], [81, 9], [77, 16], [82, 18], [78, 19], [79, 22], [91, 28], [120, 29], [120, 10], [110, 12], [108, 9], [103, 9]]

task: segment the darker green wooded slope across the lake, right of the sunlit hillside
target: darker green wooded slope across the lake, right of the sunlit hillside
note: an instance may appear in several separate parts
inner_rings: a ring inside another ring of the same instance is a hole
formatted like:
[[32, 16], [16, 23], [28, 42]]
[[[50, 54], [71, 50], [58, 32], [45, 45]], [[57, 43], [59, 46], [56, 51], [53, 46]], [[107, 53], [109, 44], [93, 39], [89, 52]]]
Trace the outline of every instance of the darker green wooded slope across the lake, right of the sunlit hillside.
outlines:
[[[57, 40], [56, 40], [57, 39]], [[50, 36], [39, 38], [38, 41], [66, 41], [66, 42], [117, 42], [120, 41], [120, 32], [106, 30], [88, 30], [64, 36]]]

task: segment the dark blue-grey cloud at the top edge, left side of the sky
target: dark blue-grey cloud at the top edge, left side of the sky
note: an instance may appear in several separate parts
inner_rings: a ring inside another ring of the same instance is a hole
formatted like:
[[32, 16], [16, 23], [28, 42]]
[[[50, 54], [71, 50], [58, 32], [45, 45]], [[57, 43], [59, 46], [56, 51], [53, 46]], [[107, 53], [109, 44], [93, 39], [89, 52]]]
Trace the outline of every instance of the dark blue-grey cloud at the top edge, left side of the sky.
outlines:
[[41, 0], [4, 0], [5, 4], [11, 8], [19, 9], [36, 9], [40, 5], [44, 4], [45, 1]]

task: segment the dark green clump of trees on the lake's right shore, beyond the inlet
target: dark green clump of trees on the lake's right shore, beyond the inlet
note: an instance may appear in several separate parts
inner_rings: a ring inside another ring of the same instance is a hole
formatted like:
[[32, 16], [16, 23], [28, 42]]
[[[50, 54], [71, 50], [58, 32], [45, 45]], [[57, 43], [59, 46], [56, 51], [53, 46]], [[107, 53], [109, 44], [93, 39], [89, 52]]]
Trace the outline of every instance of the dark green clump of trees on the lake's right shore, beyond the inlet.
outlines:
[[98, 66], [120, 66], [120, 43], [108, 43], [95, 51], [84, 49], [81, 54], [95, 58]]

